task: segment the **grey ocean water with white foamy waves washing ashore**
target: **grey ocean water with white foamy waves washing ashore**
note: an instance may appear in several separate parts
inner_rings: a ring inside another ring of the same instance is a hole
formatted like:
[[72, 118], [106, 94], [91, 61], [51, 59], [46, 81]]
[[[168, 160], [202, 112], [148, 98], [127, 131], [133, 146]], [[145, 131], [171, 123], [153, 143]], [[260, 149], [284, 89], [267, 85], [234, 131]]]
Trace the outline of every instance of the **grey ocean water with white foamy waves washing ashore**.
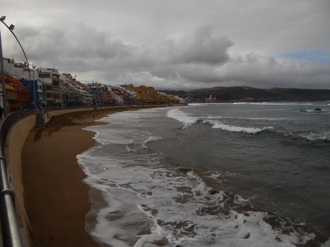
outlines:
[[[315, 111], [321, 108], [322, 111]], [[79, 154], [101, 246], [330, 246], [330, 102], [115, 113]]]

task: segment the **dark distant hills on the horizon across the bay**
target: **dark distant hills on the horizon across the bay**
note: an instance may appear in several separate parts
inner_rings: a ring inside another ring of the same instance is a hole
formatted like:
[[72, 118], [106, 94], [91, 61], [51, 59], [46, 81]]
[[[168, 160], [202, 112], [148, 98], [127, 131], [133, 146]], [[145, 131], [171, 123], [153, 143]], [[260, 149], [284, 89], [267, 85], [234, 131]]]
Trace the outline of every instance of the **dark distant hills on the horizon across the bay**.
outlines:
[[[162, 91], [162, 90], [159, 90]], [[162, 91], [179, 97], [191, 97], [203, 102], [206, 97], [217, 97], [217, 102], [274, 102], [274, 101], [325, 101], [330, 100], [328, 89], [256, 89], [250, 86], [216, 86], [193, 91]]]

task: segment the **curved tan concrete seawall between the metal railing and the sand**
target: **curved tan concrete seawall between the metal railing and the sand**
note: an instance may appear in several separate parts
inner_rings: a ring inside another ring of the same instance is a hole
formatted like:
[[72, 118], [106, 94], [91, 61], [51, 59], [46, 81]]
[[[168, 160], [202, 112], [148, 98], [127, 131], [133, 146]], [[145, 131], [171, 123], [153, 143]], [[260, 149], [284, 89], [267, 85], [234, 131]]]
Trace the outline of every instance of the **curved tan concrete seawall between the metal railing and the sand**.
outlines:
[[[54, 115], [63, 115], [76, 111], [91, 110], [92, 108], [74, 108], [67, 110], [54, 110], [45, 113], [45, 124]], [[17, 215], [21, 222], [21, 233], [25, 246], [34, 246], [32, 243], [32, 231], [30, 228], [29, 217], [25, 208], [25, 191], [22, 174], [22, 149], [28, 134], [36, 126], [36, 115], [31, 115], [17, 121], [8, 133], [7, 145], [5, 146], [5, 156], [9, 161], [8, 174], [10, 186], [14, 190]]]

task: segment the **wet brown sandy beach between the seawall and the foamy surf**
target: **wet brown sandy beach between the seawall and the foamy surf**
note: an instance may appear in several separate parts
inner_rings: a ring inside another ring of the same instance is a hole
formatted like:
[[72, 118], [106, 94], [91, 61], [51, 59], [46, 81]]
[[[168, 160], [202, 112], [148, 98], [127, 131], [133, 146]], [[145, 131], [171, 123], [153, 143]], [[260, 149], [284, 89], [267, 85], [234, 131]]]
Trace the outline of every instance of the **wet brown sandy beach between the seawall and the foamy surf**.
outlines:
[[58, 115], [34, 127], [22, 152], [23, 183], [34, 246], [99, 246], [85, 231], [91, 209], [85, 174], [76, 155], [96, 141], [83, 130], [103, 116], [136, 108], [115, 107]]

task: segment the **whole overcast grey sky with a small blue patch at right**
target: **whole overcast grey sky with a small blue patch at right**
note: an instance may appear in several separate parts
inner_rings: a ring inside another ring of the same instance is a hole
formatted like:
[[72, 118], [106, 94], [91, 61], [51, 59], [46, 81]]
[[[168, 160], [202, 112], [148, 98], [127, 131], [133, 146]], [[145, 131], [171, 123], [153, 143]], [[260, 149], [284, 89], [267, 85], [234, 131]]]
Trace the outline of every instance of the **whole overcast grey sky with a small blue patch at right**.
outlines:
[[[81, 82], [330, 89], [329, 0], [4, 0], [28, 60]], [[3, 56], [24, 59], [0, 23]]]

